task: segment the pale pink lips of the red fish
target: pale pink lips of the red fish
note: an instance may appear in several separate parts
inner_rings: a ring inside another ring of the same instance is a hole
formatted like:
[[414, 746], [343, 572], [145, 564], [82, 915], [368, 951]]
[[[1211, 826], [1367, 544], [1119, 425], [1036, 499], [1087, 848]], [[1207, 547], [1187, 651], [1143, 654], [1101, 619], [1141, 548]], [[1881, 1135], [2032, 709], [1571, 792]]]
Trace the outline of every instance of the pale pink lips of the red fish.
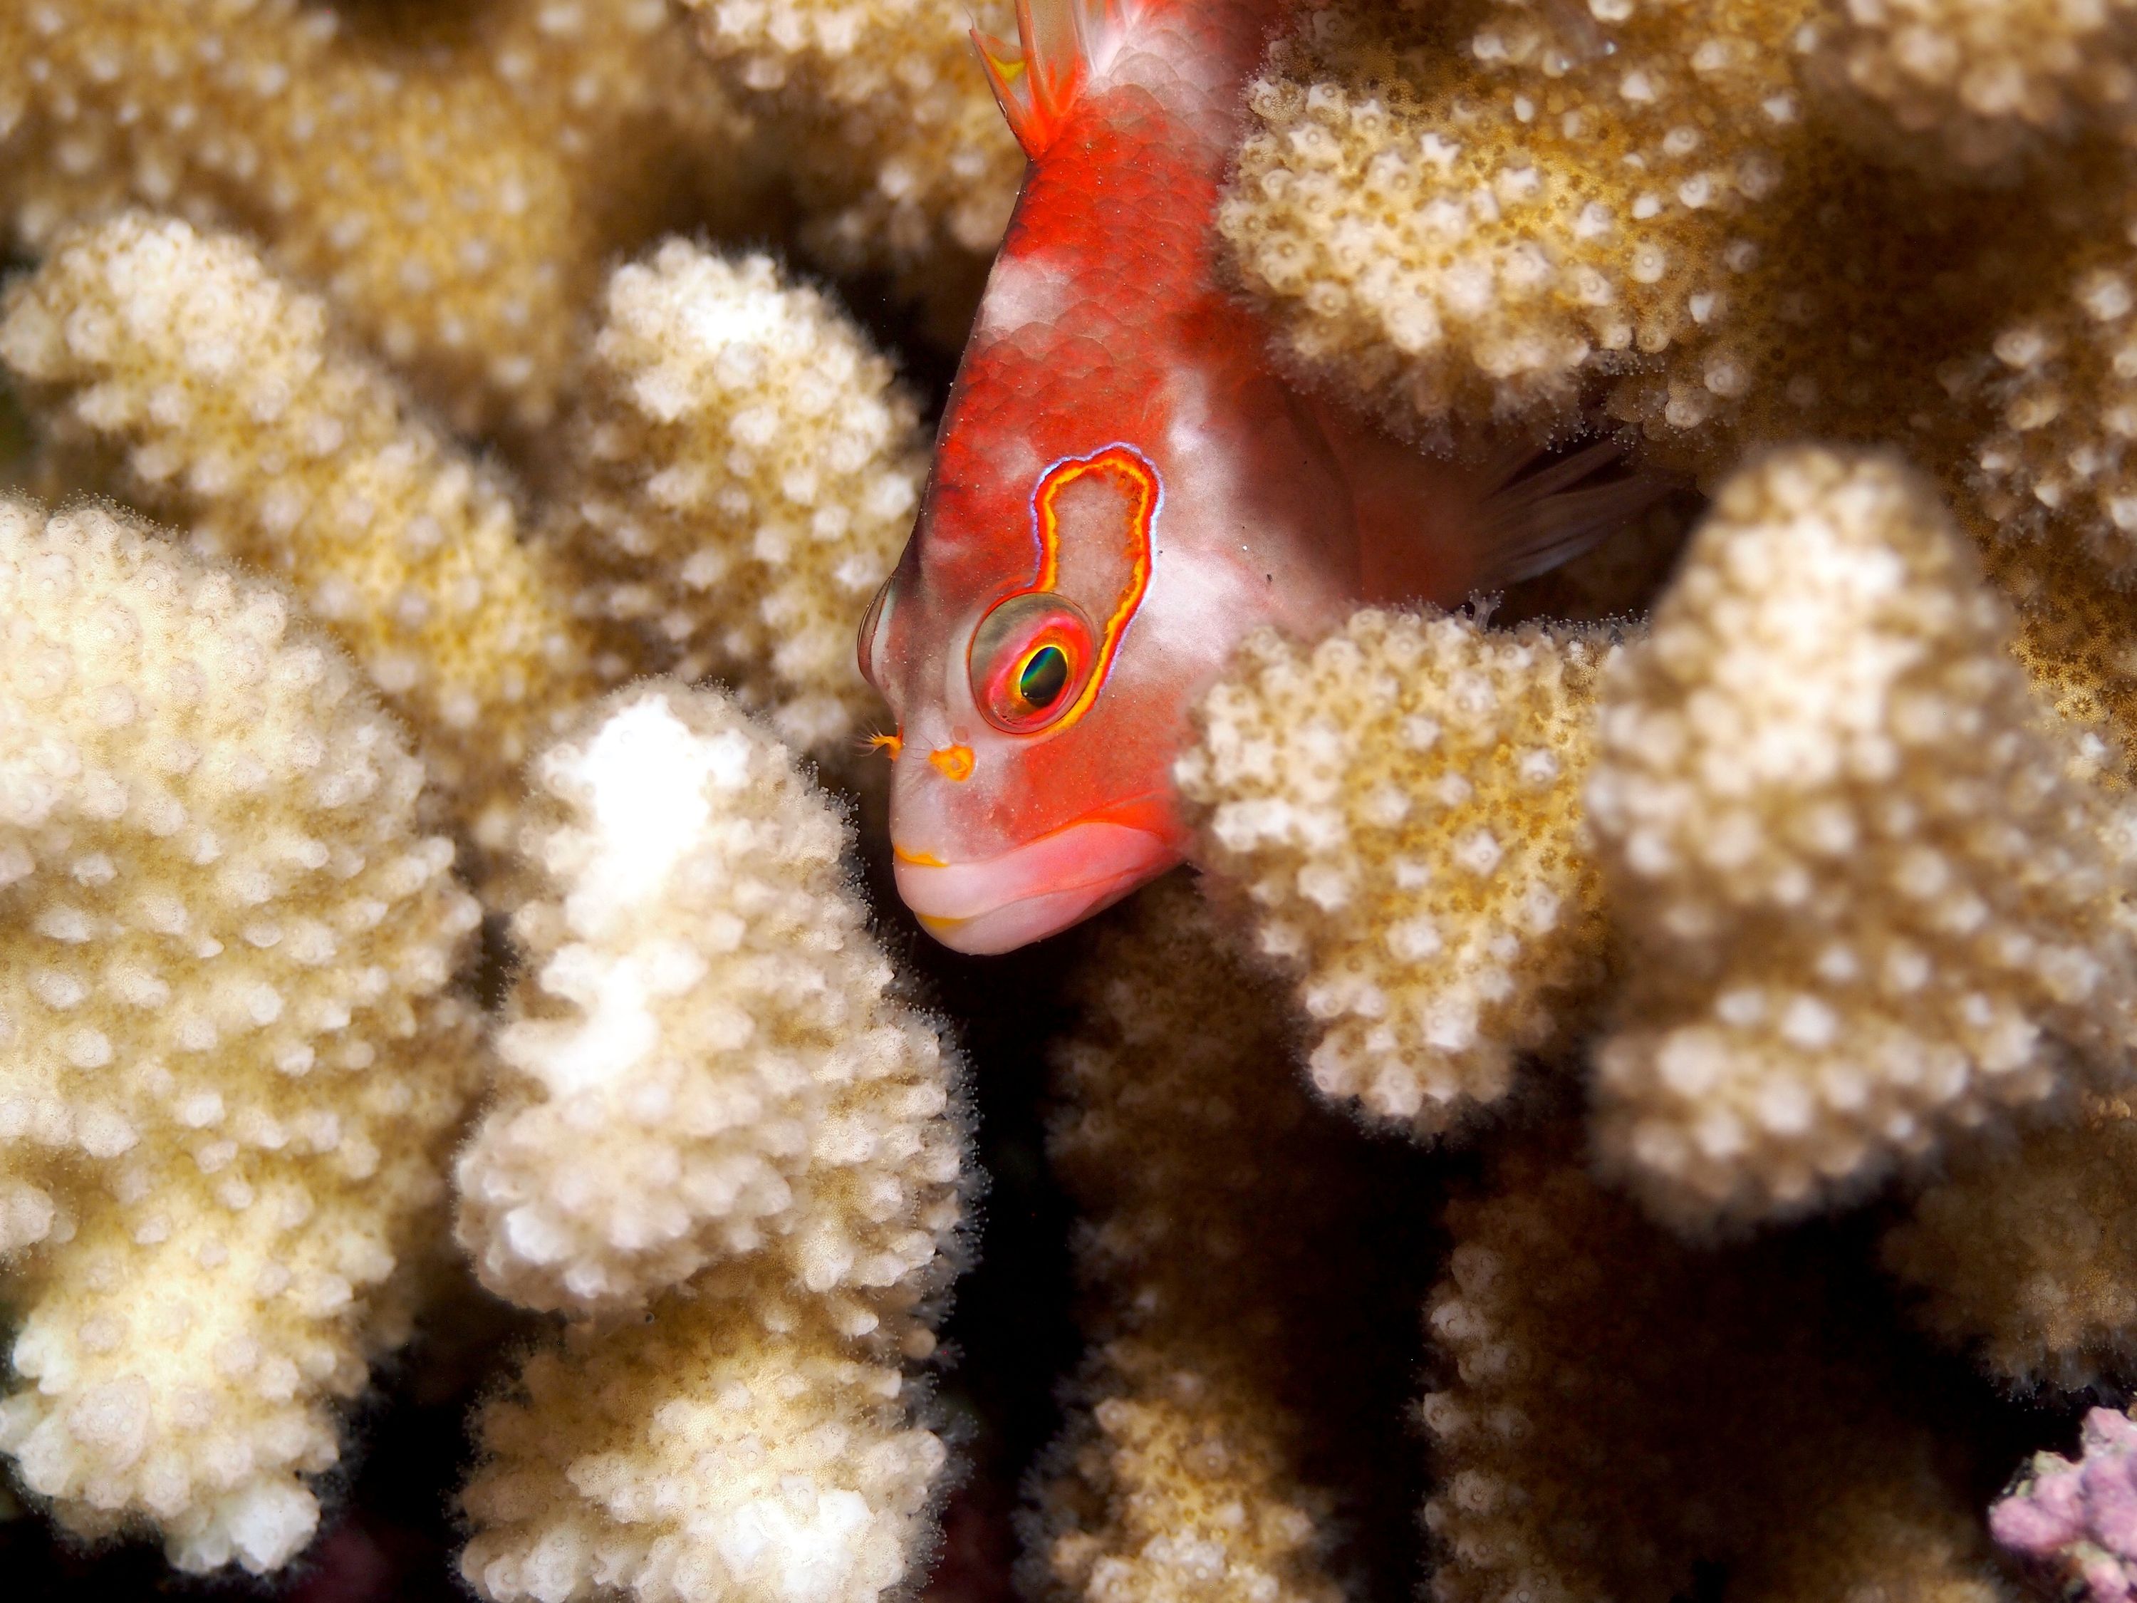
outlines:
[[1015, 951], [1148, 885], [1182, 859], [1171, 834], [1079, 819], [994, 857], [945, 863], [891, 849], [898, 896], [951, 951]]

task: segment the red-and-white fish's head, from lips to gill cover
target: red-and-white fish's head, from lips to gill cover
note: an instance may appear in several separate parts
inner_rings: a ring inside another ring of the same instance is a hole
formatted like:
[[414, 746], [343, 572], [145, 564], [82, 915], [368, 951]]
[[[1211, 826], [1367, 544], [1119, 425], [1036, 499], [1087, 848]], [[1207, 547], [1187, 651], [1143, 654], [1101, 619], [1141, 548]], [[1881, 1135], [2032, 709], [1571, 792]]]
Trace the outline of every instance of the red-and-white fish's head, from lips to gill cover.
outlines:
[[1340, 616], [1312, 554], [1246, 536], [1257, 509], [1237, 498], [1259, 487], [1237, 462], [1182, 453], [1177, 430], [1030, 442], [992, 472], [945, 442], [859, 633], [898, 718], [900, 896], [968, 953], [1039, 940], [1180, 863], [1171, 769], [1195, 703], [1250, 628]]

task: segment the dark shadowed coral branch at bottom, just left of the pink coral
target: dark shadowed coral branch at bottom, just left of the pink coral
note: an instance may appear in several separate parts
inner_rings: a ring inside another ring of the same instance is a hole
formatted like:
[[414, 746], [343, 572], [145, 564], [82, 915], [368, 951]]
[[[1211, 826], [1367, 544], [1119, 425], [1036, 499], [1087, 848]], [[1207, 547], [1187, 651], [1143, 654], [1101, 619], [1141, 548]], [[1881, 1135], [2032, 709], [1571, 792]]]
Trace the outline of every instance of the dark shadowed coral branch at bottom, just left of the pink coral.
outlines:
[[1667, 1599], [1716, 1562], [1772, 1603], [2005, 1597], [1891, 1357], [1793, 1242], [1697, 1252], [1547, 1152], [1449, 1227], [1438, 1603]]

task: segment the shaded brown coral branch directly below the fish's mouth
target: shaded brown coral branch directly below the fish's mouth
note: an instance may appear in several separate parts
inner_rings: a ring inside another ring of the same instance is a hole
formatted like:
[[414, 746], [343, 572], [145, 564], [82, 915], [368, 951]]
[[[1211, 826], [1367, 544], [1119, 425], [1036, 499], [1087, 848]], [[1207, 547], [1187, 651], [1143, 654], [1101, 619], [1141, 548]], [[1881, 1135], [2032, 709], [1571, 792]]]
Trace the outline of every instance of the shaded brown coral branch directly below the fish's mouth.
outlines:
[[1333, 1603], [1284, 1372], [1344, 1201], [1338, 1133], [1177, 883], [1096, 945], [1081, 1000], [1049, 1146], [1088, 1212], [1096, 1347], [1036, 1475], [1026, 1590]]

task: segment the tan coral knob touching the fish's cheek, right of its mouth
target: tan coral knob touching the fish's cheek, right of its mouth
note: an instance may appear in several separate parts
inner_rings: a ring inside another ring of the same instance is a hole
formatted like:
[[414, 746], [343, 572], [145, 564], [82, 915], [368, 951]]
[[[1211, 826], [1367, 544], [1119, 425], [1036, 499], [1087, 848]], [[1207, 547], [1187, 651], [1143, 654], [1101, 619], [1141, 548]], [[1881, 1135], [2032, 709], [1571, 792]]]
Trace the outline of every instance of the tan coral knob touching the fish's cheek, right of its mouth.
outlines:
[[1579, 819], [1592, 631], [1361, 611], [1250, 639], [1177, 780], [1314, 1020], [1314, 1084], [1421, 1135], [1507, 1094], [1603, 977]]

